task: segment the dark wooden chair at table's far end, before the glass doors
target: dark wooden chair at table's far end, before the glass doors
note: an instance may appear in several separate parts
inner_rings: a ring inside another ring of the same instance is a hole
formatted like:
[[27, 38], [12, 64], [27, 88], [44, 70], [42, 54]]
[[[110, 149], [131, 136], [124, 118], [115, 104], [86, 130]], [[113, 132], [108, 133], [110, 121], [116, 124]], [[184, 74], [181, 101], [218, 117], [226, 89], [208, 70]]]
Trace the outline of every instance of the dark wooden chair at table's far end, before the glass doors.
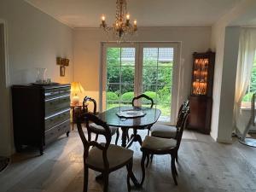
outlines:
[[[151, 97], [149, 97], [149, 96], [147, 96], [147, 95], [145, 95], [145, 94], [136, 96], [136, 97], [134, 97], [134, 98], [132, 99], [131, 104], [132, 104], [133, 107], [136, 107], [135, 102], [136, 102], [137, 100], [139, 100], [139, 99], [142, 99], [142, 100], [143, 100], [143, 99], [147, 99], [147, 100], [149, 101], [150, 108], [153, 108], [153, 106], [154, 106], [154, 100], [153, 100]], [[151, 127], [151, 126], [152, 126], [152, 125], [146, 127], [146, 128], [148, 129], [148, 135], [149, 135], [149, 131], [150, 131], [150, 127]], [[128, 133], [127, 133], [127, 135], [128, 135]], [[137, 134], [137, 128], [133, 128], [133, 134], [131, 135], [131, 137], [129, 137], [129, 135], [128, 135], [128, 138], [129, 138], [129, 140], [133, 140], [134, 142], [136, 142], [136, 141], [139, 142], [140, 145], [142, 145], [142, 143], [143, 143], [142, 138], [140, 137], [140, 135]], [[132, 142], [131, 142], [131, 143], [132, 143]], [[131, 146], [131, 143], [130, 143], [130, 145], [129, 145], [128, 147]]]

